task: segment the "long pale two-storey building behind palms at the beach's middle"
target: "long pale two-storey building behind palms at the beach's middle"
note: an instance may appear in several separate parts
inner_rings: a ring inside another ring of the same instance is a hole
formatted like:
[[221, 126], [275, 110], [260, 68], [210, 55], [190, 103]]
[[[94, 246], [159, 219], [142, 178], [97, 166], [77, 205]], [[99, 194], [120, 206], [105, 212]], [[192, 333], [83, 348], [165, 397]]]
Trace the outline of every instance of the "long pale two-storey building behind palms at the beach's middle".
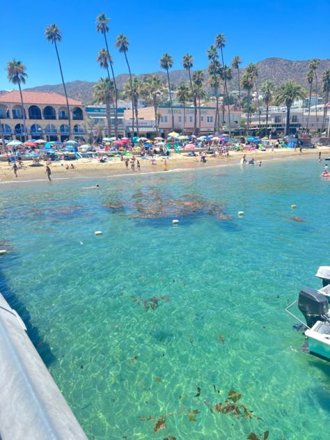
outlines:
[[[219, 107], [219, 117], [222, 119], [222, 108]], [[175, 129], [182, 134], [194, 134], [194, 107], [173, 106], [174, 127], [172, 127], [172, 109], [170, 106], [160, 105], [157, 109], [159, 114], [159, 132], [165, 136]], [[125, 112], [125, 118], [126, 114]], [[215, 107], [197, 107], [197, 131], [200, 134], [212, 134], [216, 117]], [[131, 114], [132, 118], [132, 114]], [[201, 119], [200, 119], [201, 118]], [[153, 107], [139, 109], [139, 120], [150, 119], [155, 121], [155, 111]], [[242, 112], [230, 106], [230, 129], [232, 133], [239, 134], [241, 129]], [[223, 132], [229, 130], [228, 109], [225, 108], [223, 119]], [[201, 129], [200, 129], [201, 128]]]

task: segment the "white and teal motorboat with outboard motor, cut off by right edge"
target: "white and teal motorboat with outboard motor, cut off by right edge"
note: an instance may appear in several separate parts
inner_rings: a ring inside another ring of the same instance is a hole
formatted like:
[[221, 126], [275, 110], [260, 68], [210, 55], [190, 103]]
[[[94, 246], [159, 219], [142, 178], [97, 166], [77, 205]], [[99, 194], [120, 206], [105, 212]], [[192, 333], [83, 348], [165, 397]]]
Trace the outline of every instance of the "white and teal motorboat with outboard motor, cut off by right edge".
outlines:
[[[285, 308], [291, 316], [304, 326], [304, 334], [308, 349], [314, 356], [330, 361], [330, 267], [319, 267], [316, 276], [322, 278], [323, 288], [315, 290], [305, 288], [299, 292], [299, 299]], [[304, 315], [306, 324], [290, 312], [290, 308], [298, 302], [299, 311]]]

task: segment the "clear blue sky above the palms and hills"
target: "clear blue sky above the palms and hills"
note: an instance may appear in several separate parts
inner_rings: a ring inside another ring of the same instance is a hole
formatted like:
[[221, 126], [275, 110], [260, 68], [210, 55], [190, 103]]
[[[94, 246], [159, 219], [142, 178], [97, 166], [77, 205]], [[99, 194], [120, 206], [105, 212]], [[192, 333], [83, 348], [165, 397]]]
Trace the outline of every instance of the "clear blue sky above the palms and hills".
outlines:
[[129, 63], [139, 74], [159, 70], [168, 52], [173, 69], [182, 55], [194, 56], [194, 68], [206, 68], [206, 50], [217, 33], [227, 38], [225, 62], [235, 55], [243, 64], [276, 56], [290, 60], [329, 58], [329, 0], [3, 0], [1, 2], [0, 90], [12, 90], [6, 63], [13, 57], [26, 65], [26, 87], [59, 84], [54, 47], [44, 37], [55, 22], [63, 33], [58, 45], [65, 81], [97, 81], [104, 76], [95, 58], [104, 47], [95, 17], [111, 18], [108, 34], [115, 74], [127, 72], [125, 59], [113, 47], [116, 36], [129, 39]]

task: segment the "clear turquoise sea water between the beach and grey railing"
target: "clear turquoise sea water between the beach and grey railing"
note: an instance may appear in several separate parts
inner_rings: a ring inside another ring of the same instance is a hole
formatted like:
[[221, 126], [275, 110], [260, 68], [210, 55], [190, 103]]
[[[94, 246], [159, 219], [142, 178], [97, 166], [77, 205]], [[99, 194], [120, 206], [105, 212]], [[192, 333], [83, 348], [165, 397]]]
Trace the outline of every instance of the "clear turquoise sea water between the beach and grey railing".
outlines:
[[[90, 439], [329, 438], [329, 364], [299, 351], [284, 311], [329, 265], [321, 170], [315, 154], [99, 179], [100, 191], [82, 189], [95, 180], [1, 184], [0, 291]], [[201, 209], [143, 218], [182, 199]], [[205, 402], [232, 389], [262, 420], [212, 414]], [[197, 422], [168, 416], [156, 434], [156, 419], [139, 420], [189, 409]]]

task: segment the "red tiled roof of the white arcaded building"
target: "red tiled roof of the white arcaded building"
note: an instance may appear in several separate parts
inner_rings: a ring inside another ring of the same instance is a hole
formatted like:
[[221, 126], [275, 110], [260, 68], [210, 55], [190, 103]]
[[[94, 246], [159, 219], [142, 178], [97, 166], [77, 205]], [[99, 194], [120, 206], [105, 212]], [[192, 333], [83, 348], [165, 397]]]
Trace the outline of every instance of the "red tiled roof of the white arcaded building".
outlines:
[[[53, 92], [29, 92], [22, 91], [24, 104], [53, 104], [53, 105], [66, 105], [64, 95]], [[68, 98], [69, 105], [82, 105], [81, 101], [72, 100]], [[19, 91], [11, 91], [0, 95], [0, 102], [10, 102], [13, 104], [20, 104], [21, 97]]]

